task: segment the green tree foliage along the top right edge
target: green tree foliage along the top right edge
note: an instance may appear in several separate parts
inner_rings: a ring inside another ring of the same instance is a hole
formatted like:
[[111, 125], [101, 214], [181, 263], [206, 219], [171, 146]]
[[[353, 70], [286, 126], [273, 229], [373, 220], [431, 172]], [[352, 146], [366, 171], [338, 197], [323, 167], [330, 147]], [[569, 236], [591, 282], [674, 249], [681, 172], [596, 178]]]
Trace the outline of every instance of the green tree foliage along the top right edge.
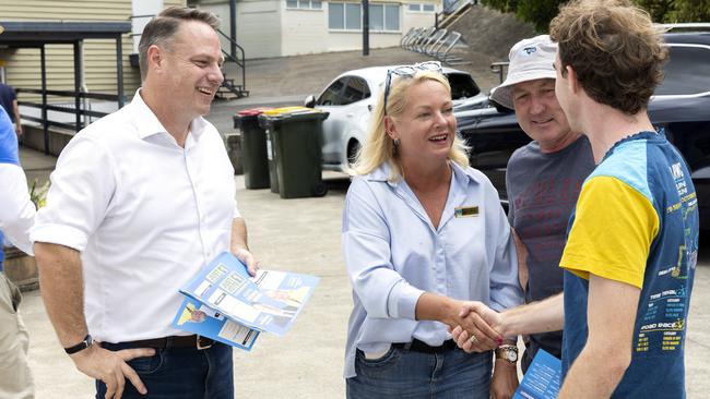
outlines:
[[[537, 32], [547, 32], [559, 5], [568, 0], [483, 0], [501, 12], [513, 12], [519, 19], [535, 25]], [[646, 9], [654, 22], [710, 22], [710, 0], [634, 0]]]

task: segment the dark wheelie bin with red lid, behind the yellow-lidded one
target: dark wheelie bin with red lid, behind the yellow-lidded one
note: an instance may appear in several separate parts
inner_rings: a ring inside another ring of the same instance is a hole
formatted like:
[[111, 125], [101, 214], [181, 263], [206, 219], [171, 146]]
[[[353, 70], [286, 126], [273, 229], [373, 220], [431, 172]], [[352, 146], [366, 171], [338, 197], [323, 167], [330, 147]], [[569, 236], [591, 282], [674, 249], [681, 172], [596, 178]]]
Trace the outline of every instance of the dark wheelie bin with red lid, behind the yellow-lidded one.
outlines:
[[249, 190], [268, 189], [270, 185], [267, 134], [259, 124], [259, 116], [269, 109], [246, 109], [234, 116], [234, 126], [241, 131], [244, 184]]

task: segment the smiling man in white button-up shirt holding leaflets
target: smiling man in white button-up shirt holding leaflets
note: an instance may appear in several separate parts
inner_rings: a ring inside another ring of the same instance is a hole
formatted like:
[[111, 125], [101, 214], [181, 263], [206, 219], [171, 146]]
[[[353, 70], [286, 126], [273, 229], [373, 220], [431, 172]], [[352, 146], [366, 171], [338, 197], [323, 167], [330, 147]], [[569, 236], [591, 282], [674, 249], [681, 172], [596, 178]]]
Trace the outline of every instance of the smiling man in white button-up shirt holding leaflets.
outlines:
[[178, 288], [217, 254], [257, 268], [202, 118], [223, 81], [217, 26], [184, 8], [145, 26], [143, 86], [62, 152], [32, 230], [47, 313], [97, 397], [234, 397], [232, 348], [170, 327]]

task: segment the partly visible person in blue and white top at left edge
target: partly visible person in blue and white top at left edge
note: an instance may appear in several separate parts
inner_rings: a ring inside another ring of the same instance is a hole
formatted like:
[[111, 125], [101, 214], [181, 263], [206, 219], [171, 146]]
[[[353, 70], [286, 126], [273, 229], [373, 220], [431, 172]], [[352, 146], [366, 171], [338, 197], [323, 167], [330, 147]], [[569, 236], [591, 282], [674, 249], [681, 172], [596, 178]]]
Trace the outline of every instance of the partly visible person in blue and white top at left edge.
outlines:
[[[20, 290], [3, 271], [4, 239], [32, 254], [29, 228], [35, 206], [17, 154], [17, 136], [0, 107], [0, 398], [34, 398], [34, 380], [27, 362], [27, 330], [17, 314]], [[7, 237], [3, 237], [3, 233]]]

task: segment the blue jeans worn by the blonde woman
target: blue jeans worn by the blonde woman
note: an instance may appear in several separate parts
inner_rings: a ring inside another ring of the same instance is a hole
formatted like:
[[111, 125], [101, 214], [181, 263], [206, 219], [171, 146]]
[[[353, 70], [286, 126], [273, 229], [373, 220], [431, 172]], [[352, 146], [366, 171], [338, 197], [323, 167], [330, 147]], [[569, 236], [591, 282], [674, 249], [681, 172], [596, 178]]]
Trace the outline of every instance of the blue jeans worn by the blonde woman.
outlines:
[[421, 353], [393, 346], [369, 360], [357, 350], [347, 399], [488, 399], [492, 367], [492, 352]]

